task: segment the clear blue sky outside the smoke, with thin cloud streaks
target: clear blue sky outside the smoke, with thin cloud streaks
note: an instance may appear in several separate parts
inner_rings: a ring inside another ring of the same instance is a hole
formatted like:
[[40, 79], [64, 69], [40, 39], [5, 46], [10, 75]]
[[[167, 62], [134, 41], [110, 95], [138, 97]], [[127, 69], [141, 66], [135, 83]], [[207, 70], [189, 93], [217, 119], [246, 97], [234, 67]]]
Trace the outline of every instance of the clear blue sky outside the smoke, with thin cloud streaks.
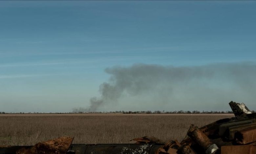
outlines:
[[0, 110], [88, 106], [108, 81], [107, 67], [255, 62], [255, 7], [255, 1], [0, 1]]

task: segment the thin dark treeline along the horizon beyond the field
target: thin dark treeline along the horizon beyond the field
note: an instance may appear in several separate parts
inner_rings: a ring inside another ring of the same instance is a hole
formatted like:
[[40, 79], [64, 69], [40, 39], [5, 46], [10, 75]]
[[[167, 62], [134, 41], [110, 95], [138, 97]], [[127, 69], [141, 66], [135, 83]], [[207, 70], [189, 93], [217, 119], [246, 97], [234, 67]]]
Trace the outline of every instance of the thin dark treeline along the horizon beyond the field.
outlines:
[[[251, 111], [252, 113], [255, 113], [254, 110]], [[49, 112], [49, 113], [45, 113], [45, 112], [0, 112], [0, 114], [74, 114], [74, 113], [100, 113], [100, 114], [104, 114], [104, 113], [115, 113], [115, 114], [217, 114], [217, 113], [233, 113], [233, 111], [183, 111], [183, 110], [179, 110], [179, 111], [103, 111], [103, 112]]]

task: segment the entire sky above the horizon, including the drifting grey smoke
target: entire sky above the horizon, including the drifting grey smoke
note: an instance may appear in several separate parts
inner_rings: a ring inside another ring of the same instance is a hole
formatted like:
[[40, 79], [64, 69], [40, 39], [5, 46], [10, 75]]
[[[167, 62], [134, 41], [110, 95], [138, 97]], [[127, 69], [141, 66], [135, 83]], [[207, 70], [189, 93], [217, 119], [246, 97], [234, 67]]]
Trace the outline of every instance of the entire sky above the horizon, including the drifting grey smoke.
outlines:
[[231, 100], [256, 110], [255, 7], [0, 1], [0, 111], [230, 110]]

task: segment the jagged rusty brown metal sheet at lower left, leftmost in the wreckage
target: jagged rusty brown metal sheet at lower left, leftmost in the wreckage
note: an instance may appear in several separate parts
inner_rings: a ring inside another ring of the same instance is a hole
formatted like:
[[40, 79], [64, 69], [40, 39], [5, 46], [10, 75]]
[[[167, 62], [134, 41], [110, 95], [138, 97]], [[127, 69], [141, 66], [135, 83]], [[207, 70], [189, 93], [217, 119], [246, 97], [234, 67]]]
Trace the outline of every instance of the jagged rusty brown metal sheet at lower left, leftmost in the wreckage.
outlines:
[[16, 154], [66, 154], [74, 138], [61, 137], [54, 140], [39, 142], [29, 148], [21, 148]]

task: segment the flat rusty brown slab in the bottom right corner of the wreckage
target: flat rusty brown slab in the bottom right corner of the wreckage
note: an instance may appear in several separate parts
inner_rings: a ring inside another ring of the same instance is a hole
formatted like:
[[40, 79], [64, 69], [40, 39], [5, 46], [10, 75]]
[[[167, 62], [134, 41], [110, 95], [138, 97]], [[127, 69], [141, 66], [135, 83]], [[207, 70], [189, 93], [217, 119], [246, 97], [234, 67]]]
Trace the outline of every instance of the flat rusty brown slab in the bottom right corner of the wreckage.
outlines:
[[255, 154], [256, 146], [254, 145], [232, 145], [222, 146], [221, 154]]

